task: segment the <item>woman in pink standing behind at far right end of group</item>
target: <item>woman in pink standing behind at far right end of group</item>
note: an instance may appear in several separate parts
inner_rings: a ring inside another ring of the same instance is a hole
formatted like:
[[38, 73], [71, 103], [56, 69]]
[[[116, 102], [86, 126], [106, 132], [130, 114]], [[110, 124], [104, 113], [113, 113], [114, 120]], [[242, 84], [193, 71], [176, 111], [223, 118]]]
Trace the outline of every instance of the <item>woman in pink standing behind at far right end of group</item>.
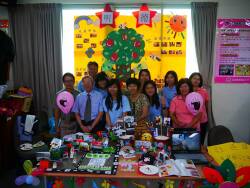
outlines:
[[193, 90], [199, 93], [204, 100], [204, 105], [202, 107], [203, 113], [201, 116], [201, 126], [200, 126], [201, 127], [201, 143], [204, 144], [207, 127], [208, 127], [207, 109], [208, 109], [209, 96], [208, 96], [207, 90], [202, 87], [203, 78], [199, 72], [192, 73], [189, 77], [189, 80], [192, 83]]

